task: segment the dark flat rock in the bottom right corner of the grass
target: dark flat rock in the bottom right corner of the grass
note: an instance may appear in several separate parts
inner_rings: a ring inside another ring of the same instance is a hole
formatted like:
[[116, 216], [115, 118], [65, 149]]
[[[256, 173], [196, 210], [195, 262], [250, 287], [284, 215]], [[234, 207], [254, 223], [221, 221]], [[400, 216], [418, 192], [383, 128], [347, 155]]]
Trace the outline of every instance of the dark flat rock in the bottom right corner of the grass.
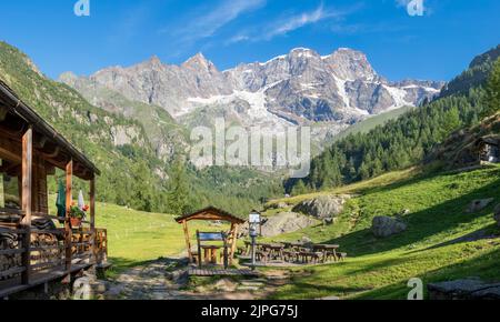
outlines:
[[431, 283], [427, 289], [430, 300], [500, 300], [500, 283], [488, 284], [476, 278]]

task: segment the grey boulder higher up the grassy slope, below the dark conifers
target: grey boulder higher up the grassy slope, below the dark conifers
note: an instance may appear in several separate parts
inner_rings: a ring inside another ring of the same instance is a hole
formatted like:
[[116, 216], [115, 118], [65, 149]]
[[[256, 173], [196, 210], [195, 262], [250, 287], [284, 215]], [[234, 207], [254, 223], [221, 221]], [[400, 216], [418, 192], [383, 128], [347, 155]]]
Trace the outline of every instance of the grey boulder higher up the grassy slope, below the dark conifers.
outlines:
[[311, 215], [318, 219], [332, 218], [343, 211], [348, 195], [322, 195], [302, 201], [292, 211]]

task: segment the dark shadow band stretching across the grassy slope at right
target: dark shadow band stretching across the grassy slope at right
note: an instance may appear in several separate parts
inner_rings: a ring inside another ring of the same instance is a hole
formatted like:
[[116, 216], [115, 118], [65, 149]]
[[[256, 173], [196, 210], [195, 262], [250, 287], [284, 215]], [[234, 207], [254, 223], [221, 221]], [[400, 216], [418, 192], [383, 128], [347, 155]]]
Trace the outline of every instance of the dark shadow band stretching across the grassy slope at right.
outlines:
[[[406, 183], [398, 182], [394, 184], [397, 187], [406, 185], [410, 181], [418, 182], [419, 180], [426, 180], [427, 178], [428, 177], [411, 179]], [[386, 189], [394, 189], [394, 185], [392, 188], [380, 188], [380, 190]], [[472, 200], [483, 198], [496, 198], [497, 201], [500, 200], [500, 180], [477, 189], [466, 195], [406, 215], [403, 220], [408, 224], [408, 230], [398, 235], [378, 239], [373, 237], [370, 229], [364, 229], [346, 234], [341, 238], [326, 241], [326, 243], [340, 244], [341, 250], [348, 252], [351, 256], [374, 254], [402, 246], [410, 246], [413, 243], [420, 242], [434, 234], [444, 231], [453, 231], [462, 224], [471, 223], [477, 218], [491, 213], [494, 203], [478, 213], [464, 212], [466, 207], [470, 204]]]

